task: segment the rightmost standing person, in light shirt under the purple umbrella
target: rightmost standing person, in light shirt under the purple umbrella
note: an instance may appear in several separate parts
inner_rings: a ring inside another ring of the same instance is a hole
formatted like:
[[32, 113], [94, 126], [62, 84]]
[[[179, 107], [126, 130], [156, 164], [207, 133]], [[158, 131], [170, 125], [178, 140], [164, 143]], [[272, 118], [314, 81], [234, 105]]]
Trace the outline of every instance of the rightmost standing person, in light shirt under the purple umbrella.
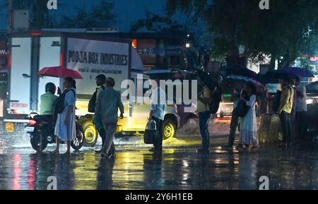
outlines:
[[305, 85], [300, 84], [300, 78], [295, 80], [297, 102], [296, 102], [296, 135], [297, 139], [303, 141], [306, 133], [307, 95]]

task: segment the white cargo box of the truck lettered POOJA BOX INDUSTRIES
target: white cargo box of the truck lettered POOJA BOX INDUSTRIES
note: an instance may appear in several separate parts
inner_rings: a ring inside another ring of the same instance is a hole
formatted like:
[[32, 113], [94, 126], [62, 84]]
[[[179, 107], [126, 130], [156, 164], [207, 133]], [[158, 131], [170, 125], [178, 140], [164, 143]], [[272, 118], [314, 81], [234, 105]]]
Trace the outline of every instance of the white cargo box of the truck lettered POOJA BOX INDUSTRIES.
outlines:
[[40, 95], [45, 84], [62, 87], [61, 78], [37, 76], [40, 69], [66, 66], [83, 76], [77, 80], [77, 116], [88, 114], [88, 101], [95, 91], [95, 77], [105, 73], [120, 82], [130, 78], [131, 42], [98, 34], [30, 31], [13, 32], [9, 39], [7, 107], [4, 114], [6, 132], [18, 133], [28, 123], [31, 112], [39, 112]]

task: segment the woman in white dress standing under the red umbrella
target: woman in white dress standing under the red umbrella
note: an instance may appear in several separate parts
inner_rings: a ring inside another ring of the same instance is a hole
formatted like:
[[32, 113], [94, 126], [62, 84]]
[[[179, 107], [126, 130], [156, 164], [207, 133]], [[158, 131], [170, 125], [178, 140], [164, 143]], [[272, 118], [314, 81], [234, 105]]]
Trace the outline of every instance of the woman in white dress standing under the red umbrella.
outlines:
[[75, 103], [76, 103], [76, 81], [73, 78], [64, 78], [64, 110], [57, 116], [54, 134], [57, 136], [57, 148], [53, 153], [59, 153], [59, 143], [67, 143], [66, 154], [71, 153], [71, 140], [76, 137]]

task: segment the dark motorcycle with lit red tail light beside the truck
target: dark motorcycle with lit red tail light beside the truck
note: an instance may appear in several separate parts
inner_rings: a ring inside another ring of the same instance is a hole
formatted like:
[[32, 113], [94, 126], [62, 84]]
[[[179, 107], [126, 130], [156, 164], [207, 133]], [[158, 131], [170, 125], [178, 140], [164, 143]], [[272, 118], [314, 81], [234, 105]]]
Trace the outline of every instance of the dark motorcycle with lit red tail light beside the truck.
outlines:
[[[84, 143], [83, 129], [77, 123], [76, 117], [76, 137], [71, 140], [71, 147], [74, 150], [80, 150]], [[25, 126], [25, 131], [30, 134], [30, 143], [32, 148], [37, 152], [42, 152], [47, 148], [48, 144], [56, 143], [54, 136], [54, 123], [48, 116], [40, 116], [37, 113], [31, 113], [28, 124]], [[61, 141], [61, 144], [64, 142]]]

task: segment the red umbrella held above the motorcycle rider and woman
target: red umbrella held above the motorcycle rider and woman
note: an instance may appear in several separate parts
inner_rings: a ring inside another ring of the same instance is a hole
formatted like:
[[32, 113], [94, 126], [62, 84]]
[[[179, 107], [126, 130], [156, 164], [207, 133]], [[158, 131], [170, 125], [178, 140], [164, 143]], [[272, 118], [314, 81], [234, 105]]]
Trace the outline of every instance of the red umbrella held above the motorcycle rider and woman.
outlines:
[[75, 71], [70, 68], [66, 68], [64, 66], [52, 66], [42, 68], [39, 72], [37, 72], [38, 76], [52, 76], [58, 78], [66, 78], [71, 77], [73, 79], [83, 79], [78, 71]]

